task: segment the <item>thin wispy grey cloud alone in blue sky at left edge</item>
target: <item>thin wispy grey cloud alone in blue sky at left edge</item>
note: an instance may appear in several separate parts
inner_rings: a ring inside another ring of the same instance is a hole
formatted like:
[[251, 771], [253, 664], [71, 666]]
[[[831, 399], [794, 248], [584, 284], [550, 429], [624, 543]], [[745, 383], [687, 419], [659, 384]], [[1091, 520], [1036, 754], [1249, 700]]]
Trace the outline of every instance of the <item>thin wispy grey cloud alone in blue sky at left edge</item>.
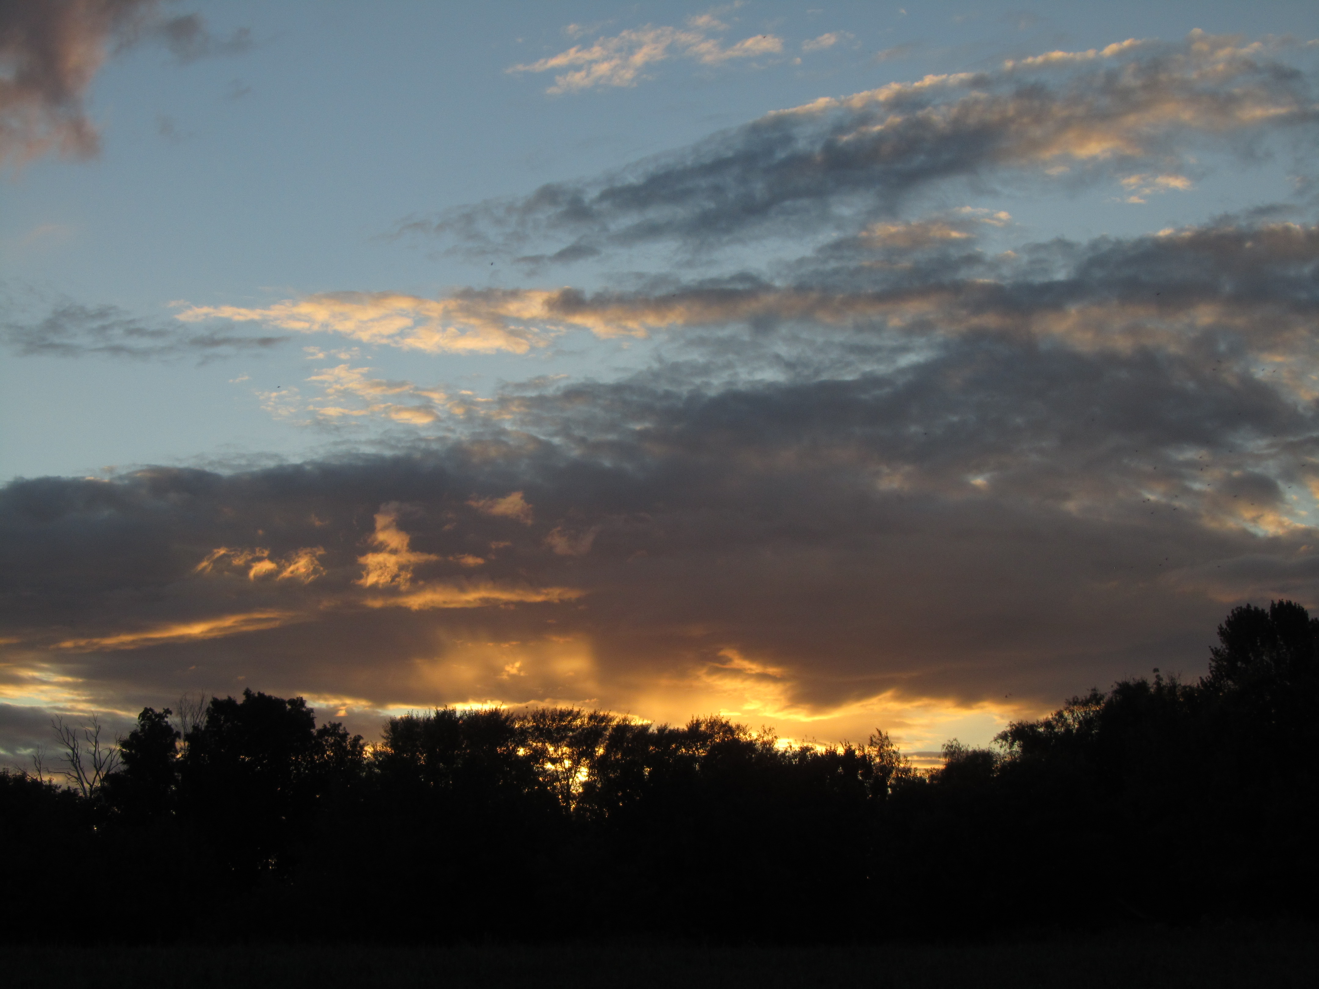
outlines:
[[269, 349], [286, 336], [194, 332], [144, 322], [116, 306], [59, 302], [29, 322], [0, 323], [0, 342], [20, 356], [174, 359], [203, 361]]

